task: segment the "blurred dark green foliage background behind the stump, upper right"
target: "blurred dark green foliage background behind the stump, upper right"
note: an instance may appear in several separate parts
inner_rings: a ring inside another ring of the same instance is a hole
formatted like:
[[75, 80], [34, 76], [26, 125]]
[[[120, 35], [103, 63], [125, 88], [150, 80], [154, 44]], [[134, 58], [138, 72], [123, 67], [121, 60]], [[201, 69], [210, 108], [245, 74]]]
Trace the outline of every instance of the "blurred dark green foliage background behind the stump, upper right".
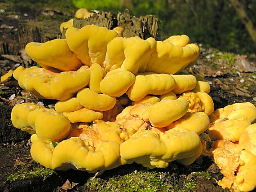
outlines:
[[[256, 52], [253, 41], [256, 0], [73, 0], [73, 3], [77, 8], [89, 10], [117, 13], [128, 8], [135, 16], [154, 14], [159, 18], [160, 39], [186, 34], [191, 42], [205, 47], [240, 54]], [[237, 7], [234, 3], [238, 3]], [[248, 28], [250, 23], [252, 29]]]

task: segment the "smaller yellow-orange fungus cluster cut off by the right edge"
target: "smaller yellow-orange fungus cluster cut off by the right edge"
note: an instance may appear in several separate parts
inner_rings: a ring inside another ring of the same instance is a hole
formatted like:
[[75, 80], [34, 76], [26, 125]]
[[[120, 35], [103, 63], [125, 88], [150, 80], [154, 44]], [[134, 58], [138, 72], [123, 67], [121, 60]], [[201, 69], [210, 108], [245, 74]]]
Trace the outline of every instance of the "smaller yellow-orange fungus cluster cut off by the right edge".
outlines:
[[210, 116], [209, 153], [224, 178], [218, 182], [231, 191], [251, 191], [256, 187], [256, 107], [236, 103], [217, 109]]

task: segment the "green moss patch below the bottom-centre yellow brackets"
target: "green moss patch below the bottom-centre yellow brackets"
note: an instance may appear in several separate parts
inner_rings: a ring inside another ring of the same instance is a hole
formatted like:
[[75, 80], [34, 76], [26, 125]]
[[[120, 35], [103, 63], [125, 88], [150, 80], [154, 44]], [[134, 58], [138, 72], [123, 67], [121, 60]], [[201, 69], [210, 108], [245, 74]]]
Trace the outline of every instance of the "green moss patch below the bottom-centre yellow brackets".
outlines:
[[173, 179], [170, 178], [171, 176], [165, 172], [133, 170], [127, 174], [114, 174], [108, 177], [93, 179], [92, 176], [84, 184], [84, 189], [99, 192], [186, 192], [194, 191], [196, 187], [196, 183], [192, 179], [182, 178], [172, 182]]

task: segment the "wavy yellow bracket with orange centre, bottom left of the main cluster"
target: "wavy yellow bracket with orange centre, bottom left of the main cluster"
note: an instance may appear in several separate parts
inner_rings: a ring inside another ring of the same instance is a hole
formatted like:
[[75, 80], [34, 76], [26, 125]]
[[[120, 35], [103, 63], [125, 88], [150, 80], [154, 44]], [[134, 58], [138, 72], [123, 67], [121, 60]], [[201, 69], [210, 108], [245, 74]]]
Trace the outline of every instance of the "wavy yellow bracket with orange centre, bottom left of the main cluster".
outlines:
[[75, 166], [89, 172], [125, 164], [120, 159], [119, 144], [128, 137], [118, 123], [96, 121], [93, 127], [75, 132], [71, 133], [75, 137], [61, 141], [55, 148], [50, 141], [33, 139], [33, 159], [51, 169], [67, 170]]

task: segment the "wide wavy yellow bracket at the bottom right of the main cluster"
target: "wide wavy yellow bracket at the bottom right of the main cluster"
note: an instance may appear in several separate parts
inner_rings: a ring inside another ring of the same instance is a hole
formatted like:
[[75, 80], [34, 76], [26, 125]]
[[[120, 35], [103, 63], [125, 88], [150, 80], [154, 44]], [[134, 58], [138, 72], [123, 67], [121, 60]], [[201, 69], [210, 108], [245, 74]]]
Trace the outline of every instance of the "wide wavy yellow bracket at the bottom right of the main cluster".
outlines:
[[202, 144], [196, 133], [172, 129], [159, 135], [150, 130], [137, 131], [120, 145], [120, 155], [149, 168], [164, 168], [168, 163], [180, 160], [190, 165], [202, 152]]

